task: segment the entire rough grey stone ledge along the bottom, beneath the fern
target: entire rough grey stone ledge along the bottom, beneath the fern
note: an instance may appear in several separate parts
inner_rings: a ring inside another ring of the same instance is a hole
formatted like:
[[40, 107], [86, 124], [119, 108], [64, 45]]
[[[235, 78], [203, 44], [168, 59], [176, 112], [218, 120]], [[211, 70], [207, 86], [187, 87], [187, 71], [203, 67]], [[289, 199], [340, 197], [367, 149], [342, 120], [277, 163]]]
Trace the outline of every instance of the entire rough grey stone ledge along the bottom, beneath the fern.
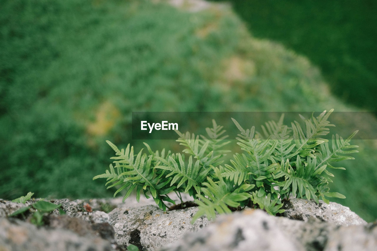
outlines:
[[[178, 202], [178, 197], [171, 196]], [[186, 198], [189, 199], [189, 198]], [[31, 205], [0, 200], [0, 250], [376, 250], [377, 223], [336, 203], [291, 199], [282, 217], [262, 210], [191, 219], [198, 208], [162, 211], [152, 199], [51, 200], [62, 204], [35, 227], [7, 217]], [[103, 210], [103, 211], [101, 211]], [[106, 212], [104, 212], [106, 211]], [[25, 217], [30, 216], [32, 210]]]

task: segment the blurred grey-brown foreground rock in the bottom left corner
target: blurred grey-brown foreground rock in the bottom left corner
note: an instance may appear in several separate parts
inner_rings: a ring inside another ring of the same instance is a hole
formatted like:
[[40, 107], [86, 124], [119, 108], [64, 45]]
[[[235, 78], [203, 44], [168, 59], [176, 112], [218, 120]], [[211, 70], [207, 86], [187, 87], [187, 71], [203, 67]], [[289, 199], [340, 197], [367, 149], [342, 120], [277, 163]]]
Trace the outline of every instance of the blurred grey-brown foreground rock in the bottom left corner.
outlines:
[[0, 250], [121, 250], [100, 236], [80, 236], [65, 229], [48, 229], [17, 219], [0, 218]]

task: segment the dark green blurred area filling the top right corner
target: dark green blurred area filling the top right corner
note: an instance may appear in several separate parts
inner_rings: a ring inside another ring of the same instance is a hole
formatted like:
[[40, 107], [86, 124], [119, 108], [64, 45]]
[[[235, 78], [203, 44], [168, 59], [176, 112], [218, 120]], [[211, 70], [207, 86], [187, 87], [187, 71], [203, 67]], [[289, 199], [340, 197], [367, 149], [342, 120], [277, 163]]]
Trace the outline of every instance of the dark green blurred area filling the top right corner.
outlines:
[[376, 114], [375, 1], [230, 2], [253, 35], [306, 55], [320, 67], [334, 95]]

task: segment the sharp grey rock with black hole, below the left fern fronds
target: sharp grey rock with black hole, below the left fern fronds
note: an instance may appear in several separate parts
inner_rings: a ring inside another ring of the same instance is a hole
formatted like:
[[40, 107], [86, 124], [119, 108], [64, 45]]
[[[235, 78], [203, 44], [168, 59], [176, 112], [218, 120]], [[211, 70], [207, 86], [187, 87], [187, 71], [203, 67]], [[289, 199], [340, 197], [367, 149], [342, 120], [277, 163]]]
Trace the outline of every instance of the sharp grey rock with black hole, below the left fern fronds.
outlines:
[[162, 211], [155, 205], [139, 208], [115, 208], [109, 213], [119, 245], [133, 244], [139, 250], [156, 250], [162, 245], [180, 239], [185, 233], [197, 231], [208, 225], [206, 217], [191, 224], [198, 208]]

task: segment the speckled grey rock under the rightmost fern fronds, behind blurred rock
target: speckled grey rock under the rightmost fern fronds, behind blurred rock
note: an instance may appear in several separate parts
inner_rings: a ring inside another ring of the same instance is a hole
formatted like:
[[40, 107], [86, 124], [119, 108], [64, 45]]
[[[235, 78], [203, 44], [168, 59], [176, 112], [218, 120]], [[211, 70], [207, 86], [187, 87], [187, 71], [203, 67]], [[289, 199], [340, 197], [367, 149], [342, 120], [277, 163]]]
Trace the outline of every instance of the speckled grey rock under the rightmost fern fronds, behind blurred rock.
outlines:
[[317, 204], [313, 199], [290, 199], [285, 202], [285, 212], [282, 216], [307, 221], [310, 217], [316, 217], [319, 220], [332, 222], [336, 225], [361, 225], [366, 221], [360, 218], [356, 213], [335, 202], [326, 204], [323, 200], [319, 200]]

